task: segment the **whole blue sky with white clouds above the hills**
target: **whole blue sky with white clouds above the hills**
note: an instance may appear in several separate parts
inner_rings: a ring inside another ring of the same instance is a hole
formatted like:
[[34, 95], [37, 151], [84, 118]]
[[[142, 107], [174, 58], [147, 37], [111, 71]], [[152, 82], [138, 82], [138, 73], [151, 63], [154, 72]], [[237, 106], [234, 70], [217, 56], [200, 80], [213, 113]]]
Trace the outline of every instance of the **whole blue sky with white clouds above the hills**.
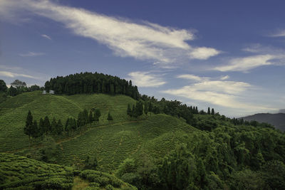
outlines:
[[98, 72], [228, 117], [285, 108], [285, 1], [0, 0], [0, 79]]

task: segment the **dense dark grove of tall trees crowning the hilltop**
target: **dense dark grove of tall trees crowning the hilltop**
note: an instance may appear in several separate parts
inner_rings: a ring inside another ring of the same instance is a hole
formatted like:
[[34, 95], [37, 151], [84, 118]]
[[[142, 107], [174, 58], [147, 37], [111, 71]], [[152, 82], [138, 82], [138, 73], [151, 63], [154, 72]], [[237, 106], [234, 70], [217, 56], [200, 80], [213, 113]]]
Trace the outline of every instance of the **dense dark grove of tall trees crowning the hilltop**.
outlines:
[[45, 84], [46, 90], [56, 94], [106, 93], [128, 95], [138, 100], [140, 94], [132, 81], [120, 79], [103, 73], [76, 73], [65, 77], [51, 78]]

